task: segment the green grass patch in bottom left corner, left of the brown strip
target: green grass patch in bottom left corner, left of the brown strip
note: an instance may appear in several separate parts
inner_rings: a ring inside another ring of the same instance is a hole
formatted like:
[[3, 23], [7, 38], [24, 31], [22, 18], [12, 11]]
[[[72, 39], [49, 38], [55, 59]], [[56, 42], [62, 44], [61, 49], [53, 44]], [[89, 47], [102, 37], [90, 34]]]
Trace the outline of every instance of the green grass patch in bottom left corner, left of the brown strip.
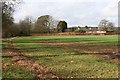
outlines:
[[23, 79], [30, 78], [31, 79], [31, 78], [34, 78], [35, 75], [33, 74], [33, 72], [29, 70], [26, 70], [26, 69], [23, 69], [17, 66], [8, 66], [6, 70], [4, 71], [2, 77], [3, 78], [15, 78], [15, 79], [18, 79], [18, 78], [23, 78]]

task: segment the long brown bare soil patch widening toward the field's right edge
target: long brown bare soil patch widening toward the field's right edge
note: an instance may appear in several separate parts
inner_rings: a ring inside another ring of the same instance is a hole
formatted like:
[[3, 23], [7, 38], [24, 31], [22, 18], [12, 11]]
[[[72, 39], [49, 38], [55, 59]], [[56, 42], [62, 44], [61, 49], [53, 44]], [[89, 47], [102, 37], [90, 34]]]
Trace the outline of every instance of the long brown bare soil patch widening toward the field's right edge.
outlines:
[[58, 42], [50, 40], [40, 40], [40, 44], [52, 45], [52, 46], [63, 46], [68, 48], [76, 49], [76, 54], [95, 54], [96, 56], [104, 59], [112, 59], [119, 63], [120, 50], [117, 44], [96, 44], [96, 43], [85, 43], [85, 42]]

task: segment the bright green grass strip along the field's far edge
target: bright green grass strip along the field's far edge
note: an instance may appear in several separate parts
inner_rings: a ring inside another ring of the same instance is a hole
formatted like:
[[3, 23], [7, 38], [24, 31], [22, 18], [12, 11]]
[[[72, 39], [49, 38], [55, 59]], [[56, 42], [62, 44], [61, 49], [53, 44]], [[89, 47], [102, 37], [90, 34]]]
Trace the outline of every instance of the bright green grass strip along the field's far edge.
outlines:
[[34, 36], [18, 37], [14, 39], [15, 43], [31, 43], [37, 40], [54, 40], [60, 42], [92, 42], [92, 43], [118, 43], [117, 35], [106, 36]]

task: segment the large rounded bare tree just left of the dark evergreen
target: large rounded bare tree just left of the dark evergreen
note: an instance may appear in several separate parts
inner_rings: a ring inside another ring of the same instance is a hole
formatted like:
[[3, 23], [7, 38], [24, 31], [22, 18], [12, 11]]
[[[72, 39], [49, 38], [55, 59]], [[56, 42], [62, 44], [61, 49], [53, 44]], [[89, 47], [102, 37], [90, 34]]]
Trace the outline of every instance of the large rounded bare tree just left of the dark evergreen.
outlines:
[[36, 33], [50, 33], [55, 26], [56, 24], [52, 16], [43, 15], [40, 16], [35, 22], [34, 31]]

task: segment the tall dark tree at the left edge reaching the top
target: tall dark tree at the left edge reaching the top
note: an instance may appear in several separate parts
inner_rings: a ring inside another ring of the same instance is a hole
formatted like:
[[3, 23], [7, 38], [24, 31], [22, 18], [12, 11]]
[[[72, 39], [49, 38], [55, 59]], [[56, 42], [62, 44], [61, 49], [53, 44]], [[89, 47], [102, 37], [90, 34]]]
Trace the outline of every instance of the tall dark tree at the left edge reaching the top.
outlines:
[[13, 13], [17, 4], [15, 0], [2, 2], [2, 37], [12, 36]]

